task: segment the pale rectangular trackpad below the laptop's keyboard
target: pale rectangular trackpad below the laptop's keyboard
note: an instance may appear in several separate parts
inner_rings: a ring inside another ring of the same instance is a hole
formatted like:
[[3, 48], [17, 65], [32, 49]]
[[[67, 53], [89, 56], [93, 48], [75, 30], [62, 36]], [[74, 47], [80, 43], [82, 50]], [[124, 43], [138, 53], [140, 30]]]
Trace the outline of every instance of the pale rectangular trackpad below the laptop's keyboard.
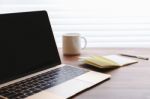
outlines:
[[64, 98], [69, 98], [70, 96], [73, 96], [92, 85], [93, 83], [72, 79], [45, 91], [54, 93]]

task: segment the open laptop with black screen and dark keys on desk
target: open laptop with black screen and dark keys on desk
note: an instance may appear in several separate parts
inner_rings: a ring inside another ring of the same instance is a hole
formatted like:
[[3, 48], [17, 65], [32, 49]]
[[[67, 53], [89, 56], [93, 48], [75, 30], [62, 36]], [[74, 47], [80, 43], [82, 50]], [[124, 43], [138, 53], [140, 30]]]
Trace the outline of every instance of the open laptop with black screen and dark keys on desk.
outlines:
[[66, 99], [108, 78], [61, 63], [46, 11], [0, 14], [0, 98]]

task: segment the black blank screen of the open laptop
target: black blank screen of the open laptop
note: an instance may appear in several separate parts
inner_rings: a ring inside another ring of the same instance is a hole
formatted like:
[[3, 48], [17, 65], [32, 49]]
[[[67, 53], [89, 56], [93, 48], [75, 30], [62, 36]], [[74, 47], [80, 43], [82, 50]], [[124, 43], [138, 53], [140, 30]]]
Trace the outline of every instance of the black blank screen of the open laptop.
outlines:
[[0, 83], [59, 64], [46, 11], [0, 15]]

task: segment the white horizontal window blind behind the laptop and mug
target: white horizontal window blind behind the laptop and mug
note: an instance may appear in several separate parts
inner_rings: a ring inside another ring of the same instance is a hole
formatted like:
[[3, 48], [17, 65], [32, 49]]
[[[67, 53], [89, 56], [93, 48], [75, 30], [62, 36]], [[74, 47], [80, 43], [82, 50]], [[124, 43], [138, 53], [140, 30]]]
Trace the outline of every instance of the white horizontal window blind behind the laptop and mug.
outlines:
[[81, 33], [88, 47], [150, 47], [149, 0], [0, 0], [0, 13], [47, 10], [57, 45]]

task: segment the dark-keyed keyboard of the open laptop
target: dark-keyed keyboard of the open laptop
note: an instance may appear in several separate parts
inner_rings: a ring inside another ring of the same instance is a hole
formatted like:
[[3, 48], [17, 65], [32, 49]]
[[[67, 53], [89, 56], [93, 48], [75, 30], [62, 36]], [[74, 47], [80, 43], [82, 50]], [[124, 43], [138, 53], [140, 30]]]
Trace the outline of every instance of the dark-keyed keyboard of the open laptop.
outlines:
[[63, 66], [46, 73], [0, 88], [0, 95], [8, 99], [22, 99], [42, 90], [54, 87], [88, 72], [71, 66]]

